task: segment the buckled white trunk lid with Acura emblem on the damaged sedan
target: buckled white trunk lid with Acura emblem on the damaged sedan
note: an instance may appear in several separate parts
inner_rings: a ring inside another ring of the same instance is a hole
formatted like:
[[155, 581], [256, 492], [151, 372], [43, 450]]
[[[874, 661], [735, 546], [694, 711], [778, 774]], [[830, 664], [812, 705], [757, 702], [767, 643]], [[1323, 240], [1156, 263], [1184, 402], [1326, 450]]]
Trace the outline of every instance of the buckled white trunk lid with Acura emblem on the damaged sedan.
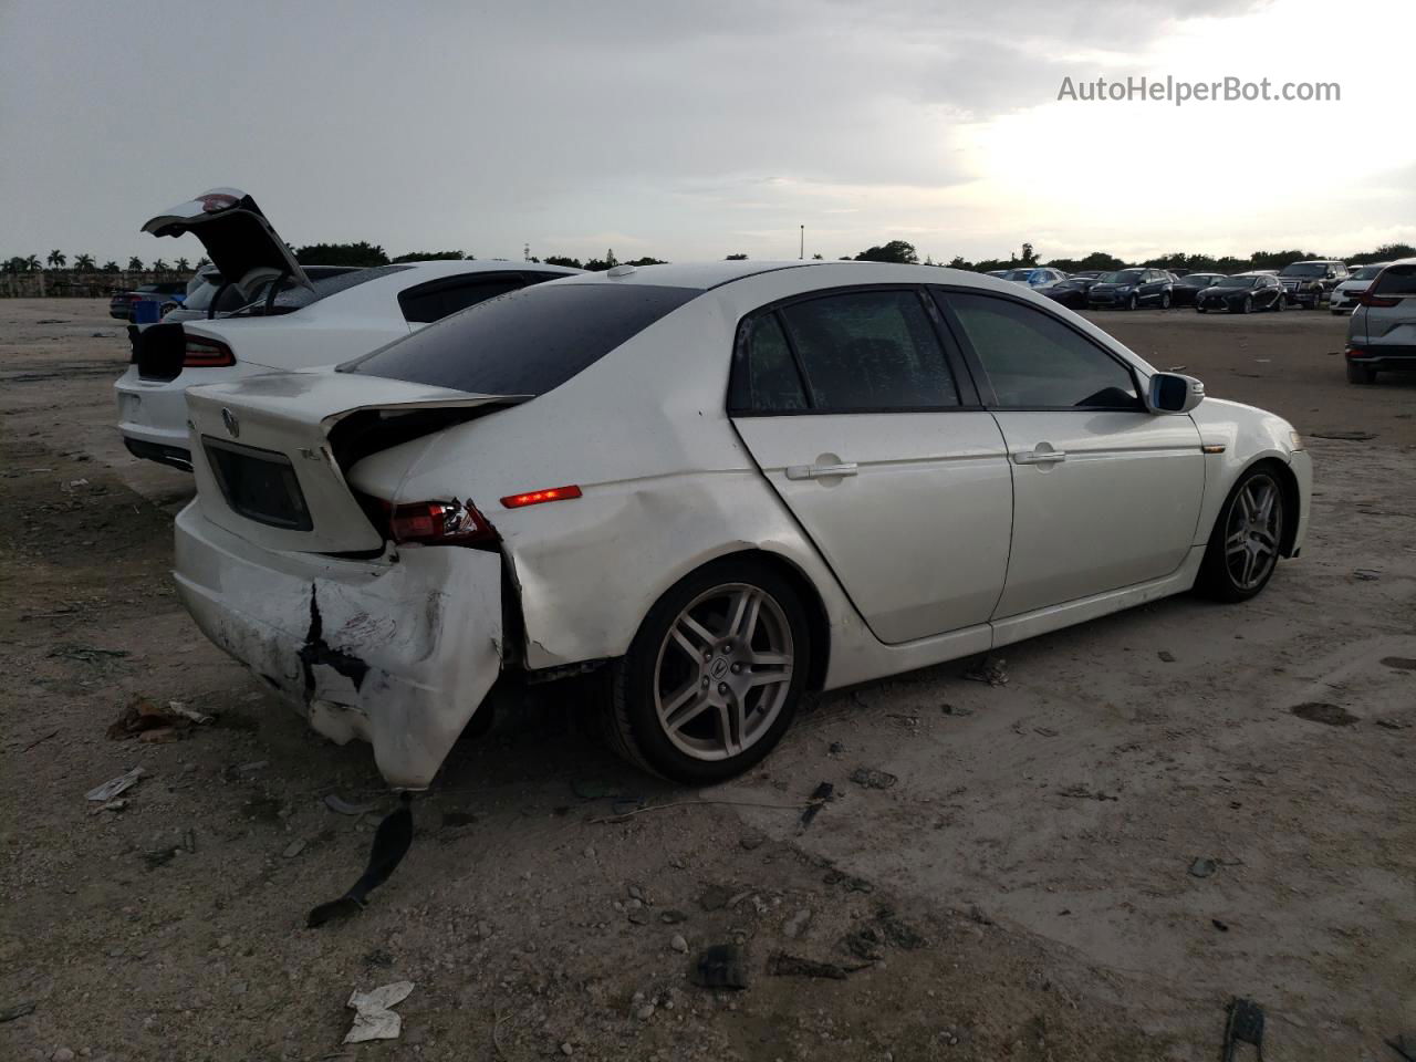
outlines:
[[[201, 510], [268, 549], [378, 551], [384, 532], [350, 490], [341, 462], [470, 419], [479, 408], [518, 401], [331, 371], [190, 388]], [[331, 439], [341, 423], [358, 425], [355, 438]]]

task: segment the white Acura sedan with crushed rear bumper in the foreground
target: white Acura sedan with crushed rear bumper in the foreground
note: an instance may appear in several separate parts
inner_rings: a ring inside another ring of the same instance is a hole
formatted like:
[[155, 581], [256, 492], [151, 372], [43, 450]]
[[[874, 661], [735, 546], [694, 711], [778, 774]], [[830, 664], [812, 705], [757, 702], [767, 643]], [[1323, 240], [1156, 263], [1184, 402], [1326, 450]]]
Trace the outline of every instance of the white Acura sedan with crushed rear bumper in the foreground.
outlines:
[[807, 691], [1259, 593], [1311, 483], [1018, 285], [867, 262], [617, 266], [188, 409], [187, 607], [399, 789], [498, 677], [588, 671], [620, 752], [729, 777]]

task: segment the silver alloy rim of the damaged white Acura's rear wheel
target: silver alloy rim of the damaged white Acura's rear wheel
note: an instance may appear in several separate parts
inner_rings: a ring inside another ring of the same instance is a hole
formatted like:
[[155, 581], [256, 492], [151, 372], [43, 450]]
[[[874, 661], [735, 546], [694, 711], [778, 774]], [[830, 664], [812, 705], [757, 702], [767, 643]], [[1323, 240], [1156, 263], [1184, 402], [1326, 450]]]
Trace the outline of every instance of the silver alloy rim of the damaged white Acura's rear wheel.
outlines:
[[792, 691], [792, 624], [759, 586], [725, 583], [688, 603], [654, 664], [654, 711], [673, 745], [722, 760], [756, 745]]

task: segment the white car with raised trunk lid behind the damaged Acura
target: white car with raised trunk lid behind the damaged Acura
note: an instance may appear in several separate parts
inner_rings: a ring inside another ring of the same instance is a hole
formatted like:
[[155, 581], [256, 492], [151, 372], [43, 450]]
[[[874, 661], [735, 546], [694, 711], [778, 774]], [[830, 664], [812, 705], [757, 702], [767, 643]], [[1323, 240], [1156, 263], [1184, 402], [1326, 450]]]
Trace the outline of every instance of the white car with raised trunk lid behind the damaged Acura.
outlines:
[[185, 391], [195, 384], [331, 364], [382, 347], [425, 324], [527, 285], [578, 273], [532, 262], [412, 262], [304, 270], [255, 201], [215, 188], [143, 227], [191, 232], [222, 279], [214, 320], [152, 326], [135, 337], [118, 379], [123, 443], [137, 457], [191, 470]]

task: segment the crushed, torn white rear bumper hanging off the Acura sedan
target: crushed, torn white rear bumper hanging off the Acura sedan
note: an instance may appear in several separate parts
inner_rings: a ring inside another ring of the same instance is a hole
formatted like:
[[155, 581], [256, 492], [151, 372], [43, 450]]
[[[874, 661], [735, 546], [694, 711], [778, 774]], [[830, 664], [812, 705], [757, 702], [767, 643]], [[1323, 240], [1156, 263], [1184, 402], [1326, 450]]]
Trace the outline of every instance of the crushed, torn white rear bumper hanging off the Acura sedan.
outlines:
[[193, 501], [177, 590], [197, 626], [320, 733], [374, 746], [394, 789], [426, 789], [501, 671], [501, 556], [404, 549], [396, 564], [258, 548]]

